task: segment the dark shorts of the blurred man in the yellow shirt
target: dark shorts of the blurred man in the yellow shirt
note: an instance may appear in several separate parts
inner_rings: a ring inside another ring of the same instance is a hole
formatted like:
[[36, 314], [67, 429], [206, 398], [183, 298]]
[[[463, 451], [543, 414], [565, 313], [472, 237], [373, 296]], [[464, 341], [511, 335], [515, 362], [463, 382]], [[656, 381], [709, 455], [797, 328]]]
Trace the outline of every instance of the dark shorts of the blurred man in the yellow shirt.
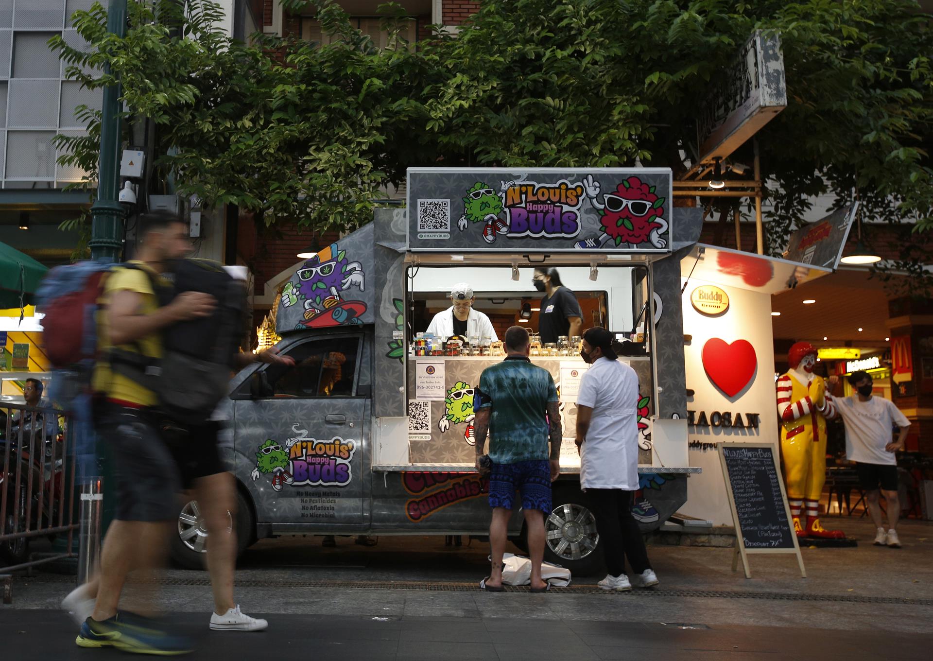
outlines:
[[178, 468], [152, 416], [117, 406], [104, 414], [99, 429], [113, 457], [115, 518], [173, 521], [178, 515]]

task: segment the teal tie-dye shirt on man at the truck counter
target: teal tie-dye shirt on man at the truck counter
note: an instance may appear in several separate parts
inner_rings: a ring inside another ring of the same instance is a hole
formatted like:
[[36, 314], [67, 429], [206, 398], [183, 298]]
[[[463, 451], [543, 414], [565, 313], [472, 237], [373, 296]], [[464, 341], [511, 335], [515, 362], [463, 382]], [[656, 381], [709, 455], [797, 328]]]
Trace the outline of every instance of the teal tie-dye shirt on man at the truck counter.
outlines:
[[548, 458], [548, 402], [557, 401], [550, 372], [509, 356], [480, 375], [480, 409], [492, 409], [489, 456], [497, 464]]

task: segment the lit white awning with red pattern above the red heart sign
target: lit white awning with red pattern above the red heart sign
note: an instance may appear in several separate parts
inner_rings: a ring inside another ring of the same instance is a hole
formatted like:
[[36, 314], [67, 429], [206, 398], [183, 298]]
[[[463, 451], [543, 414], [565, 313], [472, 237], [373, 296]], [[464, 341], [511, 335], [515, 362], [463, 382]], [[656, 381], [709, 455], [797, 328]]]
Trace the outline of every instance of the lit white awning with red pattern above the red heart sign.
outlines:
[[832, 273], [799, 261], [697, 244], [680, 260], [680, 274], [763, 294], [777, 294]]

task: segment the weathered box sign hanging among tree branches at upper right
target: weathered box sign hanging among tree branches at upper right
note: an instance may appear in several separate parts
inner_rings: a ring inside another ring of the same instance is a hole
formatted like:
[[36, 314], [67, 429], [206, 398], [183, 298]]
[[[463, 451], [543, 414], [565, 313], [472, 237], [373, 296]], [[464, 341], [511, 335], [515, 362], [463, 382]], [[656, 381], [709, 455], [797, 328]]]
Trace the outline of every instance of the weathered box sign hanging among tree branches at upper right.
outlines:
[[726, 158], [787, 106], [781, 37], [756, 32], [700, 105], [700, 162]]

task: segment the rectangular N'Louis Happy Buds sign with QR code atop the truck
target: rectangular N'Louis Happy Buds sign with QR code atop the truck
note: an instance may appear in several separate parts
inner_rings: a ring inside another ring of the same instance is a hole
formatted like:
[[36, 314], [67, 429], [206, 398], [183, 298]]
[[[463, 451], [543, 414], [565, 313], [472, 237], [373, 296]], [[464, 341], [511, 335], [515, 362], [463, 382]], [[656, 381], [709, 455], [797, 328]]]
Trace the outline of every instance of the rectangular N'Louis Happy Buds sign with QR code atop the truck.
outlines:
[[408, 246], [669, 252], [669, 168], [409, 168]]

